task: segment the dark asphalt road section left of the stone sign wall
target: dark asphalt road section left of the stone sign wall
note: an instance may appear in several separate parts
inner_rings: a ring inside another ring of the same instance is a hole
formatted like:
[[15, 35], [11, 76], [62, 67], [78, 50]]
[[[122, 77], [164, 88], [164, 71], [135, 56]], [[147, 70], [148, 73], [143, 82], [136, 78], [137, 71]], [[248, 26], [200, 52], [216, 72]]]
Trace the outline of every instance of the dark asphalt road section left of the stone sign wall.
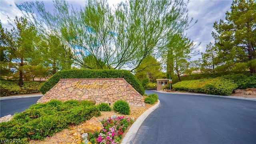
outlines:
[[39, 98], [41, 96], [0, 100], [0, 117], [8, 114], [13, 115], [15, 112], [23, 112], [32, 104], [35, 104]]

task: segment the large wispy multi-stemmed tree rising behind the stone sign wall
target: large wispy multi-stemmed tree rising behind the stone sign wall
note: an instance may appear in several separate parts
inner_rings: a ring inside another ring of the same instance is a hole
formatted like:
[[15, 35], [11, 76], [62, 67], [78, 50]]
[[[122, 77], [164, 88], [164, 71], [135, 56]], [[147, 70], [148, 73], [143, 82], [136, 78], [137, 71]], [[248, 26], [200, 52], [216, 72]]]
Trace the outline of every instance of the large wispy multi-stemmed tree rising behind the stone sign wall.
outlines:
[[144, 58], [161, 56], [168, 37], [189, 28], [187, 4], [184, 0], [130, 0], [111, 8], [106, 0], [88, 0], [75, 10], [66, 1], [56, 0], [52, 13], [43, 2], [17, 6], [41, 34], [54, 35], [67, 46], [74, 64], [92, 69], [86, 60], [90, 55], [101, 69], [138, 72]]

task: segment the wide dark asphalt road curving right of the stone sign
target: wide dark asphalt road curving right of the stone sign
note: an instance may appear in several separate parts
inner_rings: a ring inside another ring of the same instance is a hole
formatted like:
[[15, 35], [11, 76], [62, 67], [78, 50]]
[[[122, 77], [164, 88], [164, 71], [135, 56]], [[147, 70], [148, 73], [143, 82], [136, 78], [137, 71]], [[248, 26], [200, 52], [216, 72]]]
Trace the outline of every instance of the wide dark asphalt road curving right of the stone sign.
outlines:
[[256, 101], [157, 93], [133, 144], [256, 144]]

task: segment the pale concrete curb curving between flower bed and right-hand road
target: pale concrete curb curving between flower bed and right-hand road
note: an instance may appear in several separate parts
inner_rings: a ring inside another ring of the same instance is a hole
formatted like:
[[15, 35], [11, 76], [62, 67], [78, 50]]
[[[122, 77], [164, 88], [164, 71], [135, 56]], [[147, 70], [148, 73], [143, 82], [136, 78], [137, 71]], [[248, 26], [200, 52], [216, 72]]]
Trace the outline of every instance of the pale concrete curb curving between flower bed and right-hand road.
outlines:
[[132, 144], [141, 124], [144, 122], [144, 120], [148, 117], [149, 114], [151, 114], [156, 108], [158, 108], [161, 105], [160, 100], [158, 100], [157, 104], [146, 110], [129, 128], [128, 132], [124, 136], [121, 144]]

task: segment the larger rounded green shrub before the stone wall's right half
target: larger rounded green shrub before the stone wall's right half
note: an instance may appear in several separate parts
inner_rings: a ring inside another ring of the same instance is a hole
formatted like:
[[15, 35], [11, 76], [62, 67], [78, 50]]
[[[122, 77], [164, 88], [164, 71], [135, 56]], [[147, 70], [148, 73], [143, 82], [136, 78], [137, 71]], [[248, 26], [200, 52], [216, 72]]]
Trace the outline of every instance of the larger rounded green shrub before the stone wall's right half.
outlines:
[[128, 102], [124, 100], [117, 100], [114, 102], [113, 109], [115, 112], [119, 112], [120, 114], [130, 114], [130, 106]]

